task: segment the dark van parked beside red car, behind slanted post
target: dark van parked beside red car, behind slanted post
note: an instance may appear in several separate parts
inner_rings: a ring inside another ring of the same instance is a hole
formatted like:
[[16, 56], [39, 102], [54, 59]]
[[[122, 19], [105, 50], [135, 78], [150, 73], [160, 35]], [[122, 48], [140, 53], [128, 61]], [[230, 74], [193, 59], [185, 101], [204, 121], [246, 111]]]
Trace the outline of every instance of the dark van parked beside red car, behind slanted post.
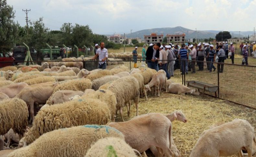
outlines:
[[[34, 48], [29, 48], [30, 50], [30, 55], [32, 57], [33, 61], [37, 61], [37, 51]], [[20, 63], [20, 62], [24, 62], [25, 57], [26, 57], [26, 48], [24, 46], [16, 46], [13, 48], [13, 57], [15, 59], [15, 63]]]

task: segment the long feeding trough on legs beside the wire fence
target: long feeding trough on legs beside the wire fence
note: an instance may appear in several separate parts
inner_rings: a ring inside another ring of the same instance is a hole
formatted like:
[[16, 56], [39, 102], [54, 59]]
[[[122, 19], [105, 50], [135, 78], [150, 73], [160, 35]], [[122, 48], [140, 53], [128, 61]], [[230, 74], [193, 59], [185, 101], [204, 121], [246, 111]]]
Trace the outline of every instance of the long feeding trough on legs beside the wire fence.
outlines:
[[217, 97], [217, 90], [219, 89], [219, 86], [213, 85], [213, 84], [207, 84], [200, 81], [186, 81], [187, 86], [197, 88], [200, 92], [200, 89], [203, 90], [203, 98], [204, 98], [204, 92], [215, 92], [215, 97]]

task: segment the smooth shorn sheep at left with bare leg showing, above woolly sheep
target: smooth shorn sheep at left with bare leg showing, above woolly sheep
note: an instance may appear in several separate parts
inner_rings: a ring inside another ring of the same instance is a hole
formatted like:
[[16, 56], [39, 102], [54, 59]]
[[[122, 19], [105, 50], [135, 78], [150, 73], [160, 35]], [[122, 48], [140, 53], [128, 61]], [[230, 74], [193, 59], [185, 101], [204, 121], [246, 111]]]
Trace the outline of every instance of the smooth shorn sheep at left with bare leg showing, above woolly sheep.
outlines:
[[16, 95], [17, 98], [24, 100], [29, 106], [29, 123], [34, 121], [34, 103], [45, 104], [58, 84], [58, 82], [47, 82], [25, 86], [19, 94]]

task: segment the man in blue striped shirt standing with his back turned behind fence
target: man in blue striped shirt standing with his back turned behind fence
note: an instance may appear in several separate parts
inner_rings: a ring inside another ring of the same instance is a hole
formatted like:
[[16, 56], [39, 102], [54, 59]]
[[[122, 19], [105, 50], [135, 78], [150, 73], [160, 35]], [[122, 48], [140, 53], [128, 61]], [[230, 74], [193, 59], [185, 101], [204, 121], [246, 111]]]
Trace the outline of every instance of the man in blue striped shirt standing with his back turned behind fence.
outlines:
[[179, 59], [181, 62], [181, 74], [183, 75], [185, 72], [188, 74], [188, 50], [185, 49], [185, 44], [181, 44], [181, 49], [179, 52]]

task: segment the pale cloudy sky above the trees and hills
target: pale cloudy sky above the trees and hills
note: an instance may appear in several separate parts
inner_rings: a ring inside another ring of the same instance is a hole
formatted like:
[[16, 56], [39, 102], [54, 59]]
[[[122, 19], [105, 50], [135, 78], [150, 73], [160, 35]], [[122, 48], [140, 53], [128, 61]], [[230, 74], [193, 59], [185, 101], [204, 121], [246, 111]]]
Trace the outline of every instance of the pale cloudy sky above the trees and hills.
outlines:
[[93, 33], [130, 33], [142, 29], [185, 27], [192, 30], [252, 31], [256, 0], [7, 0], [15, 21], [28, 18], [51, 30], [63, 23], [89, 25]]

